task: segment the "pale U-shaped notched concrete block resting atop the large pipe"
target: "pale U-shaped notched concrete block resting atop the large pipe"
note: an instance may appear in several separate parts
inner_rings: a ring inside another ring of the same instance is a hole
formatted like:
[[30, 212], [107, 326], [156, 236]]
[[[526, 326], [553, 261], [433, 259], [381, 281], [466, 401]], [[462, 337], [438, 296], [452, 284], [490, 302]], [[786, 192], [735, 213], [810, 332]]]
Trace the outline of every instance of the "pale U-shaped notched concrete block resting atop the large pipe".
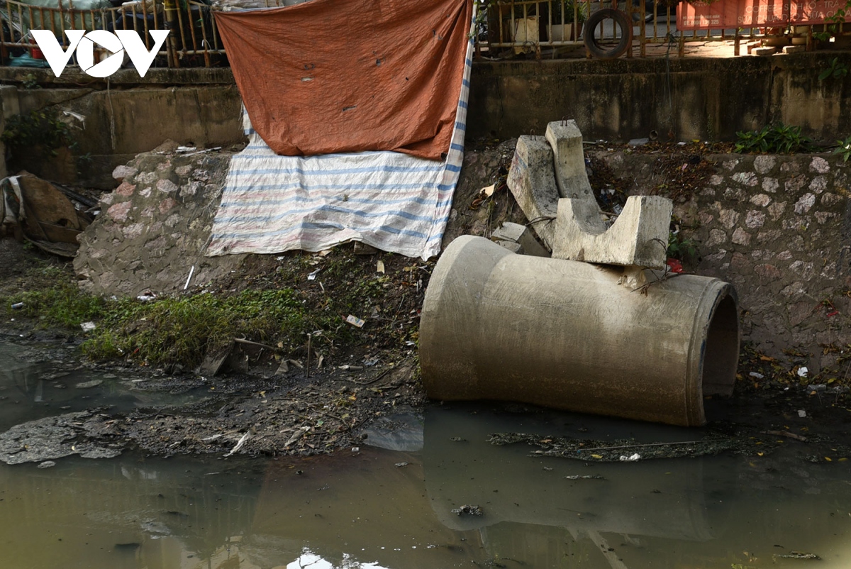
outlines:
[[611, 265], [663, 268], [673, 202], [659, 196], [630, 196], [612, 227], [600, 219], [597, 204], [558, 200], [552, 256]]

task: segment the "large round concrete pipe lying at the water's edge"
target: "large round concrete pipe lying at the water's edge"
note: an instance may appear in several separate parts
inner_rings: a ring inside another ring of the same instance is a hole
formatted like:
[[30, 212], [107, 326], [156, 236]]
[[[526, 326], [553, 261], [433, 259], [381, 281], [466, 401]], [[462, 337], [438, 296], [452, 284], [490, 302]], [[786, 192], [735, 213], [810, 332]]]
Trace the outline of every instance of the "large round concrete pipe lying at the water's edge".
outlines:
[[455, 239], [421, 316], [426, 393], [705, 424], [704, 394], [733, 393], [733, 286], [678, 275], [631, 290], [622, 273]]

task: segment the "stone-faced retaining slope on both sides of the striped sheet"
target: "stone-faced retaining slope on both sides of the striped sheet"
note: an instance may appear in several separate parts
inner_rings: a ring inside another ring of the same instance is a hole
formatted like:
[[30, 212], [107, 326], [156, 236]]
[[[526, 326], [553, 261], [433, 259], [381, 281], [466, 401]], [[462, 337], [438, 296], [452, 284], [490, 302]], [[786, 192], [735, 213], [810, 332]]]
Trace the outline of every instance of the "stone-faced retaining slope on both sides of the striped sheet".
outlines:
[[[460, 233], [488, 236], [500, 219], [523, 222], [507, 190], [494, 207], [471, 205], [495, 180], [492, 170], [505, 166], [506, 145], [466, 153], [444, 244]], [[665, 183], [663, 159], [696, 167], [688, 153], [589, 154], [634, 178], [638, 194]], [[123, 181], [104, 194], [74, 261], [83, 288], [162, 293], [182, 289], [192, 265], [192, 284], [237, 270], [244, 256], [203, 256], [230, 156], [146, 153], [119, 167]], [[699, 244], [687, 268], [735, 284], [746, 341], [775, 356], [788, 348], [809, 353], [813, 371], [832, 365], [837, 354], [823, 346], [851, 343], [851, 164], [831, 155], [703, 158], [714, 164], [710, 174], [675, 200], [683, 235]]]

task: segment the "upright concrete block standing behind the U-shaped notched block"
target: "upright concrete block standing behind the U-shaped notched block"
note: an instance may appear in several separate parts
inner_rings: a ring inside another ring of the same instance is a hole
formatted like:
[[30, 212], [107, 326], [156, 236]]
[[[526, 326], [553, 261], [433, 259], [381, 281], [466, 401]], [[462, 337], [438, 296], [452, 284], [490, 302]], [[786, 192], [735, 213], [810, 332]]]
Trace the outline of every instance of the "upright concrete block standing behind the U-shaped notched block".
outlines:
[[585, 172], [582, 133], [576, 121], [557, 121], [546, 125], [546, 140], [555, 152], [556, 185], [562, 198], [580, 198], [597, 203]]

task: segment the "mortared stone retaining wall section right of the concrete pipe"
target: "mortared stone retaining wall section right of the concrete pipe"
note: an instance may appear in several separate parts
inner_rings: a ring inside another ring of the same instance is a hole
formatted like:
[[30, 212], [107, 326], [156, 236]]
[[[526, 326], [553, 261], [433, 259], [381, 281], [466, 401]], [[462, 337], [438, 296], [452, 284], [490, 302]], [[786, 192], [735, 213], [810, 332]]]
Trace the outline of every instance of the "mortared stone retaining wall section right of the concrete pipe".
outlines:
[[[634, 175], [635, 193], [665, 182], [659, 155], [594, 155]], [[694, 168], [689, 158], [683, 168]], [[851, 164], [830, 154], [704, 158], [714, 174], [674, 206], [699, 244], [694, 272], [736, 286], [745, 340], [774, 356], [810, 353], [813, 371], [832, 365], [824, 346], [851, 342]]]

